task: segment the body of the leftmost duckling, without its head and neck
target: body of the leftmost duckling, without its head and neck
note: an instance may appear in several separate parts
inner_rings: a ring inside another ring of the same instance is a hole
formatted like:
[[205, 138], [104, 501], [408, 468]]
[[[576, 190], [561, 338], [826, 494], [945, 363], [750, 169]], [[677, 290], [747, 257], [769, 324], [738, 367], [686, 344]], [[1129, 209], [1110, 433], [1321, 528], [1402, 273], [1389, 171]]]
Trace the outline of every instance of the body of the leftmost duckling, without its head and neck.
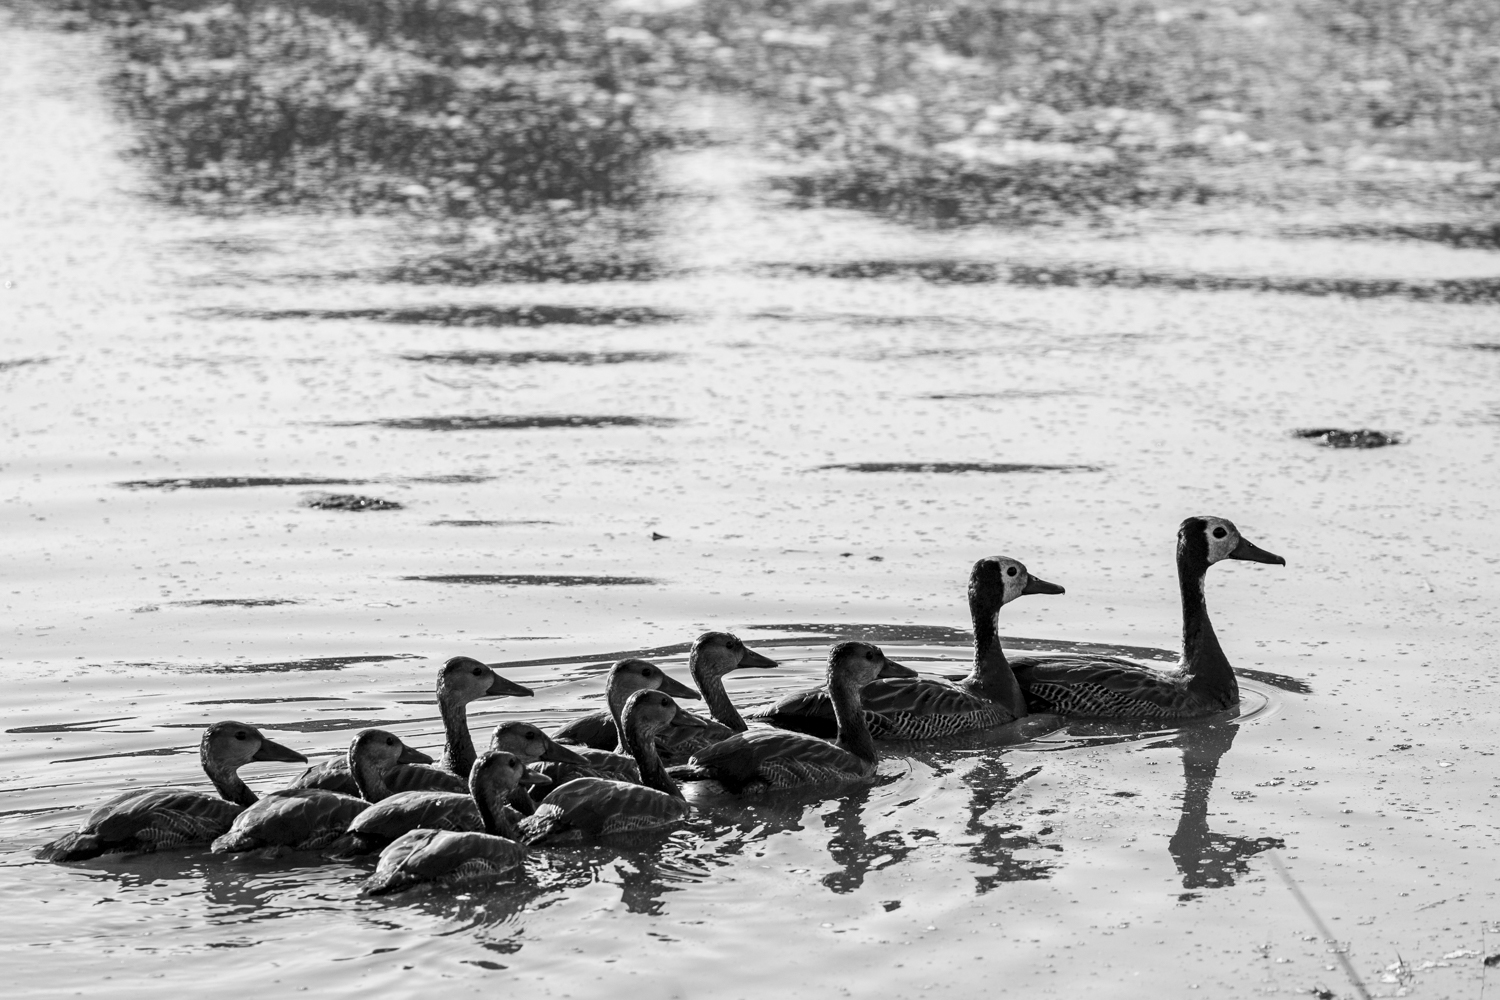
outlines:
[[82, 861], [111, 852], [207, 844], [230, 829], [242, 808], [196, 789], [126, 792], [98, 807], [82, 826], [44, 847], [38, 858]]

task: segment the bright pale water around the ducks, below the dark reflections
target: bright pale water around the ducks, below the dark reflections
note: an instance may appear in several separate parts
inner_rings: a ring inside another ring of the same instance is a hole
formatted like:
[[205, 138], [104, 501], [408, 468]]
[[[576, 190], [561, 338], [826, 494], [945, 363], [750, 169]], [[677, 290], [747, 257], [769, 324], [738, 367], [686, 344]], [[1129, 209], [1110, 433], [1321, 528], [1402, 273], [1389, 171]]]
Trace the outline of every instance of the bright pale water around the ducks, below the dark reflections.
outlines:
[[[1354, 996], [1280, 841], [1372, 993], [1479, 994], [1500, 355], [1476, 346], [1500, 313], [1412, 288], [1482, 289], [1491, 250], [1317, 220], [914, 232], [766, 201], [730, 147], [668, 165], [678, 277], [381, 283], [357, 276], [429, 232], [138, 196], [98, 64], [86, 36], [0, 31], [0, 949], [22, 993]], [[1098, 280], [1120, 267], [1198, 277]], [[1329, 288], [1384, 292], [1306, 294]], [[400, 510], [304, 505], [328, 492]], [[1006, 607], [1008, 645], [1172, 646], [1190, 513], [1288, 561], [1209, 574], [1257, 672], [1238, 718], [892, 747], [874, 787], [702, 801], [656, 843], [464, 894], [366, 901], [363, 870], [312, 856], [32, 858], [132, 783], [200, 781], [216, 718], [314, 759], [372, 724], [432, 748], [460, 652], [538, 691], [477, 703], [482, 739], [597, 706], [627, 651], [686, 676], [710, 627], [786, 661], [732, 676], [741, 705], [814, 678], [832, 634], [944, 672], [996, 552], [1068, 588]]]

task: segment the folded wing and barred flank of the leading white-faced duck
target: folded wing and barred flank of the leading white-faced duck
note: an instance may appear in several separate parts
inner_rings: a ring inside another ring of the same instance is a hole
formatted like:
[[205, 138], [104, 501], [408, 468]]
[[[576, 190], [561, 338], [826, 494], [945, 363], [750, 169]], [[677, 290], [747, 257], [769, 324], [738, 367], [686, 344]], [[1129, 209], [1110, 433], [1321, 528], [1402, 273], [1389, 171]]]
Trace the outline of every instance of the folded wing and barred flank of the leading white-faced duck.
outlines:
[[[1036, 712], [1094, 718], [1176, 718], [1197, 706], [1188, 676], [1114, 657], [1024, 657], [1011, 661]], [[1222, 706], [1220, 706], [1222, 708]]]

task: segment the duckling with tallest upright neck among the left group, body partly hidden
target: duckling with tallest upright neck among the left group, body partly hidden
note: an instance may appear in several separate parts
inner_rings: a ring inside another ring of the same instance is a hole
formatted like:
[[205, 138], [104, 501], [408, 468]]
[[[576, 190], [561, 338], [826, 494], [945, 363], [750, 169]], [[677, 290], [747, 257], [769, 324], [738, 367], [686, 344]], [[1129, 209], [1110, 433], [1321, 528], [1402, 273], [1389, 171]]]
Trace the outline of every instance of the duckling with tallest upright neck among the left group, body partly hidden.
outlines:
[[[474, 766], [474, 738], [468, 732], [468, 703], [482, 697], [531, 697], [531, 688], [507, 681], [472, 657], [453, 657], [438, 672], [438, 712], [446, 733], [442, 759], [436, 768], [406, 765], [387, 775], [392, 792], [454, 792], [468, 795], [462, 777]], [[429, 757], [430, 763], [430, 757]], [[350, 774], [348, 756], [338, 756], [308, 768], [288, 789], [324, 789], [344, 795], [360, 793]]]

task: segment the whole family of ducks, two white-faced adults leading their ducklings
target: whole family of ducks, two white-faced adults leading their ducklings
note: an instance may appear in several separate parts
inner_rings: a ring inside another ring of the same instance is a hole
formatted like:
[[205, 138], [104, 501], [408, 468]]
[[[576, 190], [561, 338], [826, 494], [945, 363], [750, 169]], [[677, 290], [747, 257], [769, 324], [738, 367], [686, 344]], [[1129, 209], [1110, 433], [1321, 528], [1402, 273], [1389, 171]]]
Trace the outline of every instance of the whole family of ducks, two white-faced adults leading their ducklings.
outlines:
[[[466, 706], [482, 697], [530, 696], [470, 657], [438, 675], [446, 744], [436, 765], [398, 736], [368, 729], [348, 754], [256, 796], [238, 777], [252, 762], [306, 757], [244, 723], [214, 723], [200, 744], [214, 792], [126, 792], [39, 852], [80, 861], [108, 852], [212, 844], [214, 853], [326, 849], [330, 858], [378, 853], [372, 895], [422, 883], [456, 885], [519, 867], [526, 849], [610, 834], [654, 831], [690, 810], [681, 783], [730, 795], [868, 780], [876, 739], [933, 739], [1006, 726], [1029, 714], [1088, 718], [1188, 718], [1239, 700], [1203, 598], [1203, 577], [1222, 559], [1286, 565], [1222, 517], [1190, 517], [1178, 531], [1182, 661], [1158, 670], [1088, 654], [1006, 658], [1000, 609], [1028, 594], [1064, 589], [1005, 556], [980, 559], [969, 577], [974, 667], [956, 678], [920, 676], [866, 642], [828, 654], [826, 684], [741, 714], [724, 691], [730, 670], [777, 663], [728, 633], [705, 633], [688, 654], [698, 690], [645, 660], [621, 660], [606, 679], [606, 709], [555, 733], [502, 723], [483, 756]], [[710, 715], [676, 699], [702, 697]], [[747, 721], [748, 720], [748, 721]], [[750, 723], [759, 723], [752, 726]]]

